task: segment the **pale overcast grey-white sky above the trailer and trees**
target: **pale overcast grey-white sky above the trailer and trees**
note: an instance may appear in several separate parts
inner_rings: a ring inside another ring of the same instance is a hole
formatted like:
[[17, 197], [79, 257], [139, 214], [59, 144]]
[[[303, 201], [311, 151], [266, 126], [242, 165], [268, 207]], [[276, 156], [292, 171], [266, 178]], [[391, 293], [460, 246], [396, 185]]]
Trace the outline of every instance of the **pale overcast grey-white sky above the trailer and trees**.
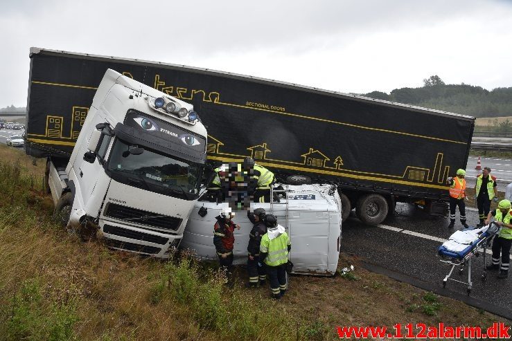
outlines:
[[512, 86], [512, 0], [1, 0], [0, 38], [0, 108], [26, 105], [30, 46], [344, 93]]

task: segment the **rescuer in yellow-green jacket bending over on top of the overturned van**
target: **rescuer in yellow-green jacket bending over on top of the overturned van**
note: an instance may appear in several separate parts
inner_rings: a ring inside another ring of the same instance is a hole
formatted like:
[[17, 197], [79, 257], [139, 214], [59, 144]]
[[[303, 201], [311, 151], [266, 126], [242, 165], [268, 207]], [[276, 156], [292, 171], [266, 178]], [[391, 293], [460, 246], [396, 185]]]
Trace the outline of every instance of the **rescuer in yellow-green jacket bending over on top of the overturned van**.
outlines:
[[252, 158], [245, 158], [242, 167], [247, 172], [247, 192], [256, 203], [270, 203], [270, 186], [274, 183], [274, 173], [254, 163]]

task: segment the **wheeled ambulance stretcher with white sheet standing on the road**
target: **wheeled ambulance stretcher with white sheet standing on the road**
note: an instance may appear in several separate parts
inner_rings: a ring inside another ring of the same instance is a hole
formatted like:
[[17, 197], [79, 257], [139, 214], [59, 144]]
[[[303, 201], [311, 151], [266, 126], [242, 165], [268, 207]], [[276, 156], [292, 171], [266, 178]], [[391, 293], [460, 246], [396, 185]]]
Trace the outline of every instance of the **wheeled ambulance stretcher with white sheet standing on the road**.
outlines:
[[[450, 236], [448, 241], [445, 241], [443, 245], [439, 246], [437, 254], [441, 258], [443, 263], [448, 263], [452, 266], [448, 275], [443, 279], [443, 288], [446, 287], [448, 279], [454, 282], [459, 282], [468, 285], [468, 295], [471, 293], [473, 288], [473, 282], [471, 282], [471, 259], [478, 257], [480, 253], [484, 255], [484, 274], [482, 275], [482, 281], [487, 279], [486, 273], [486, 250], [491, 245], [493, 237], [500, 230], [500, 225], [492, 222], [483, 228], [467, 228], [464, 230], [456, 231]], [[459, 275], [464, 272], [464, 267], [467, 265], [468, 268], [468, 282], [463, 282], [458, 279], [451, 278], [455, 267], [459, 267]]]

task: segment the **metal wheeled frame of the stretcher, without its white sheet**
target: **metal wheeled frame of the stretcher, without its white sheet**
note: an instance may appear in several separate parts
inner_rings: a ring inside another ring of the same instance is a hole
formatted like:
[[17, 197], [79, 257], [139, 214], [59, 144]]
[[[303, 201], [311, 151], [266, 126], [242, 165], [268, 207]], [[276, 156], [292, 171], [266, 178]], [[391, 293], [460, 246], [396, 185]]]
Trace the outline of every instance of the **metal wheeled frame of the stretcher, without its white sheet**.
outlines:
[[[495, 225], [496, 228], [493, 228], [493, 225]], [[482, 234], [479, 235], [478, 239], [470, 243], [467, 248], [460, 252], [446, 250], [445, 248], [443, 248], [443, 246], [439, 247], [438, 255], [439, 257], [441, 257], [441, 259], [439, 260], [442, 261], [443, 263], [448, 263], [452, 265], [450, 272], [443, 279], [443, 288], [446, 287], [448, 279], [450, 279], [450, 281], [453, 282], [467, 284], [467, 293], [469, 296], [471, 293], [471, 289], [473, 288], [473, 282], [471, 281], [471, 259], [473, 258], [473, 256], [478, 257], [480, 252], [484, 254], [484, 273], [482, 274], [481, 278], [482, 281], [485, 282], [485, 280], [487, 279], [486, 250], [488, 246], [491, 245], [493, 237], [497, 234], [499, 230], [500, 226], [493, 221], [491, 223], [491, 226], [489, 226], [488, 230], [486, 230], [486, 232], [482, 232]], [[451, 278], [453, 270], [456, 266], [459, 266], [459, 275], [461, 275], [464, 272], [464, 267], [466, 266], [466, 264], [468, 264], [468, 282]]]

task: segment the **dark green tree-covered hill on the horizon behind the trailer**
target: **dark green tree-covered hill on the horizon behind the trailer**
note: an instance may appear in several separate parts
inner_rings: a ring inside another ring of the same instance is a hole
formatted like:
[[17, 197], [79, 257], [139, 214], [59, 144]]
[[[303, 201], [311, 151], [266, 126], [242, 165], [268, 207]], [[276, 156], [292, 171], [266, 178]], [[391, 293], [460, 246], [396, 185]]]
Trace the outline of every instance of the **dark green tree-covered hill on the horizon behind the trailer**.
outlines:
[[438, 75], [423, 80], [420, 88], [394, 89], [389, 94], [372, 91], [362, 95], [477, 118], [512, 116], [512, 87], [488, 91], [482, 86], [464, 83], [445, 84]]

